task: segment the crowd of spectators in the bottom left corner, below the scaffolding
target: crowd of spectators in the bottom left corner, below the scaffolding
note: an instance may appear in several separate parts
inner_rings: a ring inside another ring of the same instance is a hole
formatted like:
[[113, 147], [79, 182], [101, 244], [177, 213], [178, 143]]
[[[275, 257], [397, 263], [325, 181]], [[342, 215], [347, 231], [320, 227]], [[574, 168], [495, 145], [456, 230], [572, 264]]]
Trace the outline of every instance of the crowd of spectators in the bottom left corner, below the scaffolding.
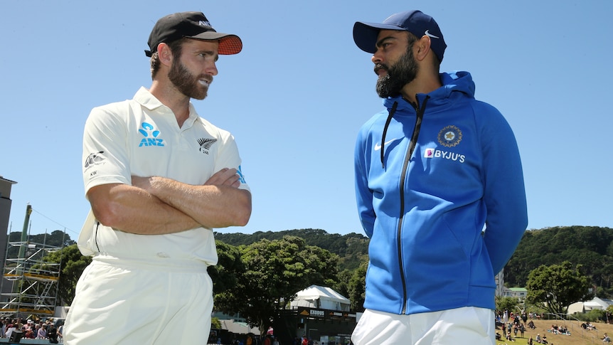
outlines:
[[7, 317], [0, 319], [0, 327], [1, 338], [11, 339], [15, 332], [20, 332], [21, 339], [49, 339], [51, 344], [58, 344], [62, 339], [63, 325], [55, 328], [53, 319], [47, 319], [45, 322], [27, 319], [26, 322], [23, 322], [21, 318], [11, 319]]

